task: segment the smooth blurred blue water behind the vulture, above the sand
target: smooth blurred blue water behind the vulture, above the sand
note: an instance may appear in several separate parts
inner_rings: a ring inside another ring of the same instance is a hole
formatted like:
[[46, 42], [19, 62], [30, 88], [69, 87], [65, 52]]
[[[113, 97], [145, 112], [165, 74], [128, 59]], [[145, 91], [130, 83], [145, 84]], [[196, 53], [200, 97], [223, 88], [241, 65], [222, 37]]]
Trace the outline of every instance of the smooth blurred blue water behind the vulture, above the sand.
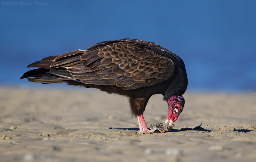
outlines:
[[1, 86], [39, 86], [20, 80], [30, 63], [133, 38], [178, 54], [188, 90], [256, 92], [256, 1], [7, 2], [0, 4]]

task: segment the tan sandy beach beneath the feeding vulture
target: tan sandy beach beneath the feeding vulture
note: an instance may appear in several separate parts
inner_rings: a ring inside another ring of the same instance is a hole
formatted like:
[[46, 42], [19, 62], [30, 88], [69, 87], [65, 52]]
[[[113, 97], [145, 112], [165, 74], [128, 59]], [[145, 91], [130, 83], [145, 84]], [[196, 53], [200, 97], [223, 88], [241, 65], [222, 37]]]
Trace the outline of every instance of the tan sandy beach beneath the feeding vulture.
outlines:
[[[138, 135], [122, 96], [83, 88], [0, 91], [0, 161], [256, 159], [255, 94], [185, 93], [172, 132]], [[152, 96], [144, 112], [148, 127], [167, 114], [163, 96]], [[184, 129], [201, 122], [204, 131]]]

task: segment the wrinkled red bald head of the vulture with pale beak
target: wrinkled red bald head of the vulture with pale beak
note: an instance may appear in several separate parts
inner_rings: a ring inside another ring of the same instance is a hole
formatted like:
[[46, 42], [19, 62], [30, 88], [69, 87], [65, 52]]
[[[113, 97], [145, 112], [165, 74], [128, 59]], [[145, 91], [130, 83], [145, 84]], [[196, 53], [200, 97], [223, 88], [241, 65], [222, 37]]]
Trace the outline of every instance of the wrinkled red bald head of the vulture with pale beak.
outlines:
[[180, 112], [182, 112], [185, 104], [185, 100], [182, 96], [171, 96], [167, 100], [167, 102], [168, 102], [169, 112], [168, 112], [167, 120], [165, 121], [165, 123], [171, 120], [170, 125], [172, 125], [174, 121], [178, 119]]

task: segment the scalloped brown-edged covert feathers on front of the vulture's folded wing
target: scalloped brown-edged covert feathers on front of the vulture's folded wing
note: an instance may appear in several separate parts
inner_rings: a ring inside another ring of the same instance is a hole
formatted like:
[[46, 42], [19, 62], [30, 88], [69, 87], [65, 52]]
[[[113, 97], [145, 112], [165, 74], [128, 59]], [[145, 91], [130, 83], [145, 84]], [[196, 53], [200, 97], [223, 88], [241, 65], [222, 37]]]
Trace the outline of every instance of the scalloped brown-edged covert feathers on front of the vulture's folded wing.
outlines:
[[[99, 75], [123, 89], [154, 85], [167, 80], [174, 72], [172, 60], [136, 43], [114, 42], [99, 49], [98, 56], [111, 58], [112, 64], [114, 63], [111, 71]], [[166, 72], [159, 66], [168, 68], [169, 71]]]

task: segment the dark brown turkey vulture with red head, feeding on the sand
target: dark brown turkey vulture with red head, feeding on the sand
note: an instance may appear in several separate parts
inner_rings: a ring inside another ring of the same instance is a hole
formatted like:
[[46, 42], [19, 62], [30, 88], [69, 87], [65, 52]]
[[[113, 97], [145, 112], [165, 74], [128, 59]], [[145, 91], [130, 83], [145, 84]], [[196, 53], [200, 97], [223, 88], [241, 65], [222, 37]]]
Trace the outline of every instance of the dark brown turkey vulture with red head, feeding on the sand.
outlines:
[[139, 133], [151, 134], [143, 117], [149, 98], [162, 94], [168, 103], [165, 123], [173, 125], [183, 110], [188, 77], [183, 60], [164, 47], [138, 39], [119, 39], [36, 61], [23, 74], [31, 82], [67, 83], [129, 98]]

